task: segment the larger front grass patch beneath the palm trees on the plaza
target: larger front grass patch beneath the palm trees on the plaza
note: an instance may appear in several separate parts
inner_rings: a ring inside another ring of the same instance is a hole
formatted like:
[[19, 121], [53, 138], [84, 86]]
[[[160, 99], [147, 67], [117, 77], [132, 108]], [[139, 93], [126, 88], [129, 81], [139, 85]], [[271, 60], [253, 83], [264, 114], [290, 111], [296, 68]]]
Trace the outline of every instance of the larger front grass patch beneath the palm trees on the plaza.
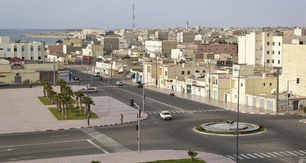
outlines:
[[[72, 110], [68, 110], [68, 118], [65, 119], [65, 115], [62, 115], [62, 112], [59, 112], [56, 107], [48, 108], [49, 111], [54, 115], [57, 120], [81, 120], [87, 119], [87, 114], [84, 114], [84, 108], [80, 111], [79, 108], [73, 108]], [[89, 119], [97, 119], [99, 118], [95, 113], [91, 112], [91, 117]]]

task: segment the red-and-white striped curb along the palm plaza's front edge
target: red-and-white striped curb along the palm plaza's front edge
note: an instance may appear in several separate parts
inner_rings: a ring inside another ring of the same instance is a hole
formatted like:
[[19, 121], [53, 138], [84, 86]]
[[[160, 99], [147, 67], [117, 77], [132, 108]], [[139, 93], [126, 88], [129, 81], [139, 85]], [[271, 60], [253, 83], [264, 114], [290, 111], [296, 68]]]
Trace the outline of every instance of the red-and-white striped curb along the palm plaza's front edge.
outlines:
[[[146, 120], [148, 117], [141, 119], [140, 121]], [[114, 124], [105, 124], [105, 125], [96, 125], [96, 126], [86, 126], [86, 127], [71, 127], [71, 128], [57, 128], [57, 129], [45, 129], [45, 130], [37, 130], [37, 131], [21, 131], [21, 132], [8, 132], [8, 133], [0, 133], [0, 134], [12, 134], [12, 133], [25, 133], [25, 132], [40, 132], [40, 131], [59, 131], [59, 130], [68, 130], [68, 129], [81, 129], [81, 128], [94, 128], [94, 127], [106, 127], [106, 126], [115, 126], [115, 125], [123, 125], [135, 123], [138, 121], [131, 121], [125, 123], [114, 123]]]

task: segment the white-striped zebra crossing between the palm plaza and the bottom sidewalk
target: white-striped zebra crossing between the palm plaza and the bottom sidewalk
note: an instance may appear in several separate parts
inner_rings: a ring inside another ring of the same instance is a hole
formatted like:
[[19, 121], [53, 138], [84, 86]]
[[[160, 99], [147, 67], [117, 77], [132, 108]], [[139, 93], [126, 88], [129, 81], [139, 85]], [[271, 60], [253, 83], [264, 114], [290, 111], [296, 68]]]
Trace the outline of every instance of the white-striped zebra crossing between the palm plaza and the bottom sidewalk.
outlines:
[[93, 128], [81, 128], [81, 131], [88, 134], [90, 137], [98, 141], [99, 143], [103, 144], [104, 146], [108, 147], [114, 152], [128, 152], [132, 151], [129, 148], [124, 147], [123, 145], [117, 143], [112, 138], [108, 137], [107, 135], [93, 129]]

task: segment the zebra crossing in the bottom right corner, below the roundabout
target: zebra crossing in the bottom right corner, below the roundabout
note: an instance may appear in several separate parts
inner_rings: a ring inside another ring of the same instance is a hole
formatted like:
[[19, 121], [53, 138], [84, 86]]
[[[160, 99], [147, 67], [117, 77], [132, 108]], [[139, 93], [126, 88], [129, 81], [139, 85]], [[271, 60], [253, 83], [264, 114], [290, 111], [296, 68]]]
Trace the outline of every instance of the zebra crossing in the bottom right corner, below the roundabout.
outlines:
[[[273, 157], [294, 157], [306, 156], [306, 150], [278, 151], [278, 152], [259, 152], [238, 154], [239, 159], [273, 158]], [[236, 154], [226, 155], [226, 157], [236, 160]]]

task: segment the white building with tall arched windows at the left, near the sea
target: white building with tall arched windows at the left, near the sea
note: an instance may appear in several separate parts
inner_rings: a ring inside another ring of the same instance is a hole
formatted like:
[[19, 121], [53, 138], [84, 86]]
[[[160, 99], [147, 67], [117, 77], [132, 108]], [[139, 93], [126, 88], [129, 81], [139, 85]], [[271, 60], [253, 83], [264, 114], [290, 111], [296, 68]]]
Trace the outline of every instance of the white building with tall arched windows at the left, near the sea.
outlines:
[[10, 37], [0, 37], [0, 58], [18, 58], [24, 60], [44, 60], [44, 43], [10, 42]]

